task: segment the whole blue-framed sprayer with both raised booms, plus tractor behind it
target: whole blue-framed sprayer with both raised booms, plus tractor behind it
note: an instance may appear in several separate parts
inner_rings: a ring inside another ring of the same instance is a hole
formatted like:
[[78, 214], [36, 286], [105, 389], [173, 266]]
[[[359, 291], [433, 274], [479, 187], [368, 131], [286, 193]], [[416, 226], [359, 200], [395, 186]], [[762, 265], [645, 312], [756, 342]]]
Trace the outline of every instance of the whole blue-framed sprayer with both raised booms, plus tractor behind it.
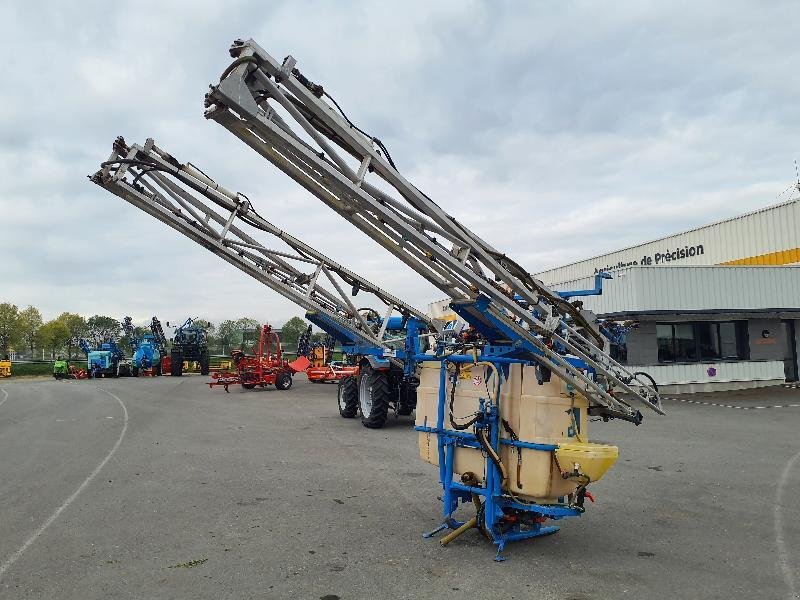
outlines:
[[[449, 529], [445, 545], [476, 528], [502, 560], [508, 542], [554, 533], [555, 522], [582, 514], [589, 486], [618, 455], [615, 446], [589, 441], [590, 417], [639, 425], [640, 407], [663, 414], [652, 380], [604, 351], [590, 314], [411, 184], [385, 145], [345, 116], [294, 58], [276, 61], [252, 40], [237, 40], [230, 54], [206, 95], [206, 118], [438, 288], [465, 331], [439, 326], [281, 232], [249, 199], [152, 140], [128, 146], [118, 139], [92, 181], [306, 308], [358, 367], [339, 385], [343, 416], [360, 407], [365, 425], [380, 426], [388, 404], [398, 412], [416, 406], [420, 456], [438, 469], [442, 486], [442, 523], [427, 535]], [[244, 225], [291, 252], [267, 249]], [[323, 277], [334, 290], [319, 285]], [[346, 289], [369, 291], [385, 312], [359, 310]], [[474, 516], [458, 520], [459, 505]]]

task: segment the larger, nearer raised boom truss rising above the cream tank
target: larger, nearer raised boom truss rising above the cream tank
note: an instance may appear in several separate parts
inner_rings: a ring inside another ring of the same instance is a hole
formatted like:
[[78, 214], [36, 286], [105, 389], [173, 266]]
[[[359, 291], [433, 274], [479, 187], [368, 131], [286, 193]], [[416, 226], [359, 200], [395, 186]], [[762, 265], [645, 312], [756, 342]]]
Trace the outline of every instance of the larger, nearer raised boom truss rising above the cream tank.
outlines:
[[279, 62], [253, 40], [237, 40], [230, 53], [234, 61], [206, 96], [206, 118], [447, 294], [490, 342], [516, 347], [572, 384], [596, 414], [638, 423], [632, 402], [663, 414], [657, 390], [603, 351], [600, 334], [569, 301], [409, 182], [383, 143], [294, 58]]

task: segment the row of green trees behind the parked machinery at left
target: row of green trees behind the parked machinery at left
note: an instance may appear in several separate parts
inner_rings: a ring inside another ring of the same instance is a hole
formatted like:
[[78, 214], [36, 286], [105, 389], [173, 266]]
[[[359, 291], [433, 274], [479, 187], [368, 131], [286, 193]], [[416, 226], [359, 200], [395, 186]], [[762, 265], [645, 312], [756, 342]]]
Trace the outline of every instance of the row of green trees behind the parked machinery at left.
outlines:
[[[244, 343], [244, 332], [257, 330], [261, 322], [251, 317], [226, 319], [214, 324], [207, 319], [195, 319], [195, 324], [206, 330], [208, 345], [219, 354], [229, 354]], [[170, 323], [177, 327], [181, 323]], [[166, 324], [165, 324], [166, 325]], [[281, 327], [281, 341], [286, 347], [297, 344], [300, 334], [308, 323], [301, 317], [292, 317]], [[136, 336], [149, 332], [149, 327], [135, 327]], [[79, 342], [85, 339], [90, 346], [97, 347], [108, 339], [118, 342], [123, 348], [130, 347], [130, 340], [123, 335], [122, 321], [106, 315], [85, 318], [76, 313], [63, 312], [55, 319], [44, 322], [35, 306], [20, 309], [9, 302], [0, 303], [0, 358], [12, 351], [29, 359], [65, 354], [73, 358], [80, 349]], [[170, 327], [165, 327], [167, 338]]]

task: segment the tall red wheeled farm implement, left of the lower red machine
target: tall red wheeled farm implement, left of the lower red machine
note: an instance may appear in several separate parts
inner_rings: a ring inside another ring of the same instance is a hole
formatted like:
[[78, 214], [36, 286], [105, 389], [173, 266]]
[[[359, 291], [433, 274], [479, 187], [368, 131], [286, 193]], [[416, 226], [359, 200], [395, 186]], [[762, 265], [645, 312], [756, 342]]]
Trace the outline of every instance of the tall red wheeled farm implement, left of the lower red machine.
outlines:
[[221, 385], [227, 392], [231, 385], [241, 385], [246, 390], [274, 385], [278, 390], [288, 390], [292, 387], [292, 375], [304, 371], [309, 365], [305, 356], [291, 363], [285, 361], [280, 336], [269, 325], [264, 325], [259, 331], [258, 347], [253, 355], [236, 350], [232, 358], [236, 371], [212, 372], [209, 387]]

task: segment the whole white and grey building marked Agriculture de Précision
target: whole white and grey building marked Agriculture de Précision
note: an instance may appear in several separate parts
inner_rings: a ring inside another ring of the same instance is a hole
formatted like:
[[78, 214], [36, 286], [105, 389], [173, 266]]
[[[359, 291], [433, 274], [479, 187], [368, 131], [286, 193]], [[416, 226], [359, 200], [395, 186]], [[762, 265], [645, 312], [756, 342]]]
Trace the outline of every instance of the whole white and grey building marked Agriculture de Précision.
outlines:
[[[798, 188], [800, 189], [800, 188]], [[797, 265], [797, 266], [792, 266]], [[667, 392], [798, 380], [800, 199], [538, 273], [603, 319], [626, 322], [612, 354]]]

